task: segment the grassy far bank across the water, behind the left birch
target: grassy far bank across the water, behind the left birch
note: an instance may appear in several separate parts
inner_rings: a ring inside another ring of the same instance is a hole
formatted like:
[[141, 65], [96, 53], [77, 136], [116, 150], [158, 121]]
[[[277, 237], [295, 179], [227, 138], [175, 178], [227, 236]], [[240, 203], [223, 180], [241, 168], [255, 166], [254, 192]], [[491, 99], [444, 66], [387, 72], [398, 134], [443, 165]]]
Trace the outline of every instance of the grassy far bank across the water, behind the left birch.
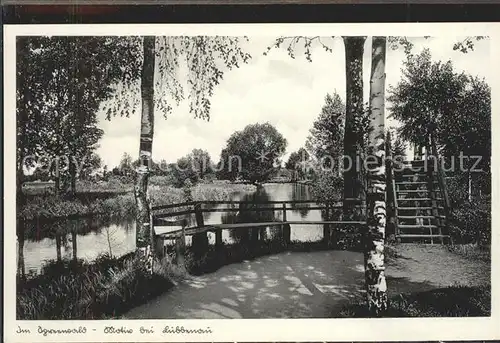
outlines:
[[[79, 185], [77, 189], [83, 189], [83, 192], [78, 193], [73, 199], [52, 194], [31, 194], [27, 197], [27, 204], [18, 211], [18, 218], [33, 220], [92, 214], [133, 215], [135, 199], [132, 188], [131, 184], [110, 181], [109, 183], [100, 183], [93, 188]], [[255, 190], [255, 186], [245, 184], [200, 183], [192, 187], [191, 195], [195, 201], [230, 200], [236, 192], [253, 190]], [[149, 192], [153, 206], [185, 201], [184, 190], [170, 186], [162, 177], [151, 178]]]

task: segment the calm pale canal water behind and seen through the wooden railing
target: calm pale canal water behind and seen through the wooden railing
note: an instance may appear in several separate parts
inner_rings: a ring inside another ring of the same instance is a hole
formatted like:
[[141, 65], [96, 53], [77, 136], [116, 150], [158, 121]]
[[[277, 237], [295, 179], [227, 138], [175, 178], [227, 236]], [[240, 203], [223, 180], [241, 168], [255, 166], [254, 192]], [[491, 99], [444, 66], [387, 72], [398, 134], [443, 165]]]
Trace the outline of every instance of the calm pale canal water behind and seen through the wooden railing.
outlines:
[[[311, 200], [309, 186], [303, 184], [264, 184], [254, 192], [234, 194], [235, 201], [248, 201], [261, 206], [265, 201], [284, 200]], [[320, 210], [308, 210], [304, 207], [313, 206], [312, 203], [297, 204], [287, 211], [289, 221], [320, 221]], [[227, 208], [228, 205], [218, 205]], [[234, 205], [238, 206], [238, 205]], [[264, 205], [269, 207], [269, 205]], [[275, 206], [282, 206], [276, 204]], [[302, 209], [296, 209], [296, 207]], [[205, 224], [252, 222], [252, 221], [279, 221], [282, 211], [240, 211], [240, 212], [207, 212], [204, 213]], [[186, 218], [194, 223], [193, 216]], [[44, 227], [49, 226], [49, 227]], [[177, 227], [163, 228], [164, 231], [174, 230]], [[161, 231], [162, 228], [159, 228]], [[267, 237], [272, 236], [273, 228], [267, 228]], [[61, 259], [72, 259], [74, 254], [79, 259], [92, 261], [101, 254], [122, 256], [135, 249], [135, 222], [133, 218], [119, 220], [104, 220], [100, 218], [77, 218], [53, 221], [48, 223], [30, 222], [26, 224], [27, 237], [24, 243], [25, 271], [38, 273], [43, 264]], [[40, 232], [76, 232], [76, 234], [40, 236]], [[238, 239], [243, 231], [224, 230], [223, 240], [232, 243]], [[209, 241], [213, 244], [215, 235], [209, 233]], [[291, 239], [296, 241], [317, 241], [323, 237], [321, 225], [292, 225]], [[76, 242], [74, 240], [76, 239]], [[190, 244], [190, 239], [187, 242]], [[76, 250], [74, 250], [76, 247]], [[19, 246], [17, 247], [19, 249]], [[19, 256], [19, 254], [16, 254]]]

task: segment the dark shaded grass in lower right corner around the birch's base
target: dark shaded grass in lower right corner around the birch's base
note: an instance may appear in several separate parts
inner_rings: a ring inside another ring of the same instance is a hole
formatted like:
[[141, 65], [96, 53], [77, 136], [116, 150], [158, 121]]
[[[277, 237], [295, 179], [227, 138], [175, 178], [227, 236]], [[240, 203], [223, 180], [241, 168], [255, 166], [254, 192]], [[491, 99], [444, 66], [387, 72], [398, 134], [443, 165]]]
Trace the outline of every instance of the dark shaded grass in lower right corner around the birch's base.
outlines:
[[[384, 317], [483, 317], [491, 315], [489, 286], [452, 286], [426, 292], [399, 294], [389, 299]], [[338, 314], [333, 314], [338, 317]], [[369, 317], [364, 302], [347, 305], [343, 318]]]

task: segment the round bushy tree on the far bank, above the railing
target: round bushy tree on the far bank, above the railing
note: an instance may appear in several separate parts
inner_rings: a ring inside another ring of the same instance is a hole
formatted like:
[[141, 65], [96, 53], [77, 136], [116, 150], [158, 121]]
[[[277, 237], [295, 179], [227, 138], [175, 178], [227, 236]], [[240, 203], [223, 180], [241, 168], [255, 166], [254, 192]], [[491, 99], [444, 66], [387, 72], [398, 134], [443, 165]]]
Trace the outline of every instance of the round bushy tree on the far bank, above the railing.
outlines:
[[221, 152], [219, 176], [261, 182], [281, 165], [286, 139], [269, 123], [252, 124], [229, 137]]

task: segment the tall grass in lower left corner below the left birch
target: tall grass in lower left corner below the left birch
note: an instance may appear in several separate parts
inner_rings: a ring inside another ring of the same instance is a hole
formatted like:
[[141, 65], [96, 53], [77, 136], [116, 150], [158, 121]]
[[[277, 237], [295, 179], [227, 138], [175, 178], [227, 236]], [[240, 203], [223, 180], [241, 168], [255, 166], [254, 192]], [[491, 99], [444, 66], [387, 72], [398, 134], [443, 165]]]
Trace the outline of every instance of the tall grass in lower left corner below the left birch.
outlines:
[[51, 263], [42, 275], [18, 280], [17, 318], [114, 318], [170, 289], [185, 274], [166, 259], [155, 266], [148, 276], [135, 257]]

